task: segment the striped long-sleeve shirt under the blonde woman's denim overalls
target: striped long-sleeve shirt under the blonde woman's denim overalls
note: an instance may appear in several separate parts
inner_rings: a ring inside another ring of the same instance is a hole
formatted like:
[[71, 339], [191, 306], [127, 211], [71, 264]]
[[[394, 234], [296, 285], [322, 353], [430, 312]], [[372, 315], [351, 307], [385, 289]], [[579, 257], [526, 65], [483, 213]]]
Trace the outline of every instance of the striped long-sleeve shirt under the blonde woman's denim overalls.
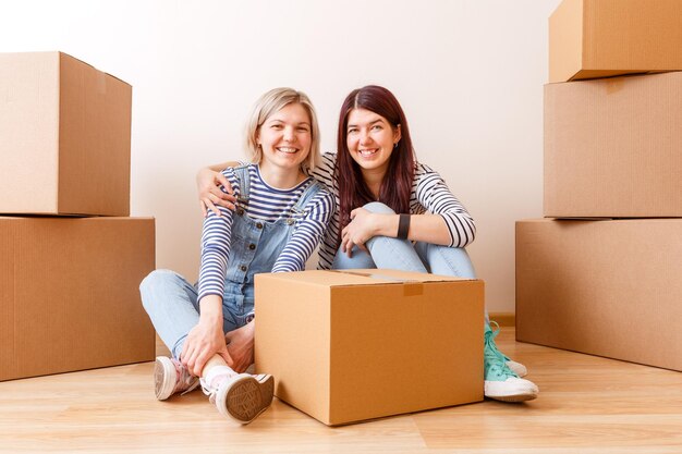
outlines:
[[[226, 169], [222, 174], [230, 182], [234, 195], [239, 197], [241, 187], [234, 169]], [[278, 189], [269, 186], [263, 180], [256, 164], [248, 167], [248, 204], [243, 207], [246, 216], [267, 222], [282, 218], [296, 218], [295, 231], [277, 261], [272, 263], [271, 271], [303, 270], [306, 260], [325, 234], [327, 224], [336, 211], [333, 196], [328, 191], [318, 191], [305, 206], [304, 212], [301, 216], [295, 216], [292, 209], [305, 189], [314, 183], [312, 177], [290, 189]], [[230, 254], [240, 253], [239, 250], [230, 250], [233, 213], [227, 208], [218, 208], [222, 216], [218, 217], [209, 210], [204, 220], [199, 300], [206, 295], [222, 297]]]

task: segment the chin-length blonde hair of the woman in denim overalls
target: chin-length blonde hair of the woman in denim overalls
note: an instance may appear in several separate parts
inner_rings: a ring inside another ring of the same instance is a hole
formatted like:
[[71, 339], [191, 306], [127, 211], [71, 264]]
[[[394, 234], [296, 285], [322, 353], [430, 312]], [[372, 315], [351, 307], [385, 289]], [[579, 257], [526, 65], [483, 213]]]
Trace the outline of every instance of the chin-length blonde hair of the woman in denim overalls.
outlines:
[[293, 88], [273, 88], [263, 95], [254, 105], [248, 122], [246, 123], [246, 150], [251, 154], [251, 161], [260, 162], [263, 159], [263, 149], [258, 146], [257, 136], [263, 123], [270, 115], [279, 112], [282, 108], [291, 103], [299, 103], [308, 113], [310, 118], [310, 151], [307, 158], [301, 164], [304, 170], [313, 170], [320, 160], [319, 154], [319, 125], [317, 123], [317, 114], [315, 108], [303, 91]]

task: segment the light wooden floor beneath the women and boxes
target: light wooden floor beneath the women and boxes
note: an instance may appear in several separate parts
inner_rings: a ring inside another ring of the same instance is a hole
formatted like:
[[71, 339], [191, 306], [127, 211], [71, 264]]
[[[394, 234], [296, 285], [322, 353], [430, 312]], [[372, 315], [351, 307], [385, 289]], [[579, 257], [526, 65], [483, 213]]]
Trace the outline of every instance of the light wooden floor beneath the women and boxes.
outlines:
[[682, 373], [514, 342], [540, 396], [328, 428], [275, 401], [223, 419], [202, 392], [158, 402], [153, 364], [0, 383], [0, 452], [682, 453]]

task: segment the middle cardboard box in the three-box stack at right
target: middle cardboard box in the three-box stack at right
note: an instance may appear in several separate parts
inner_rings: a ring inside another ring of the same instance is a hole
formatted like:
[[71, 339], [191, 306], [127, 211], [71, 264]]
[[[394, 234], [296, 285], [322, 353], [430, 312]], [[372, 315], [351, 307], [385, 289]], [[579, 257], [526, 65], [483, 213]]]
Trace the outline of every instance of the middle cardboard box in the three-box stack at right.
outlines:
[[682, 72], [546, 85], [544, 214], [682, 217], [681, 150]]

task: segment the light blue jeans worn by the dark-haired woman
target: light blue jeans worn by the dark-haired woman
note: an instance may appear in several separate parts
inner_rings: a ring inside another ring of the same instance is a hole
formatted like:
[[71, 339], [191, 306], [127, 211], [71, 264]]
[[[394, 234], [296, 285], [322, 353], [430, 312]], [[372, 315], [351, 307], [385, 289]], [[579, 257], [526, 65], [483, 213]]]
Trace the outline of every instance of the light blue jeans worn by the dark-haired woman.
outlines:
[[[376, 213], [395, 214], [391, 208], [378, 201], [367, 204], [363, 208]], [[412, 244], [409, 240], [388, 236], [375, 236], [365, 246], [369, 254], [354, 246], [352, 257], [349, 257], [339, 248], [333, 259], [332, 268], [336, 270], [386, 268], [476, 279], [474, 265], [464, 248], [439, 246], [424, 242]], [[485, 312], [485, 321], [487, 324], [487, 310]]]

